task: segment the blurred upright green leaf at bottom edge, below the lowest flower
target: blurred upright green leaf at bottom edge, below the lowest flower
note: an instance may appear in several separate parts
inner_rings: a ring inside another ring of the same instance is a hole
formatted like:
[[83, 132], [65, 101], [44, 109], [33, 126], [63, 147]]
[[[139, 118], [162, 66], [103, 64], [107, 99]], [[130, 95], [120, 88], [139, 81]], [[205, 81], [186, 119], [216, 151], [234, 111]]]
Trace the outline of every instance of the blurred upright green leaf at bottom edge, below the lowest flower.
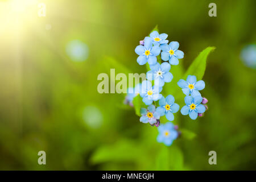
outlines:
[[182, 170], [183, 154], [176, 146], [163, 146], [156, 157], [156, 170]]

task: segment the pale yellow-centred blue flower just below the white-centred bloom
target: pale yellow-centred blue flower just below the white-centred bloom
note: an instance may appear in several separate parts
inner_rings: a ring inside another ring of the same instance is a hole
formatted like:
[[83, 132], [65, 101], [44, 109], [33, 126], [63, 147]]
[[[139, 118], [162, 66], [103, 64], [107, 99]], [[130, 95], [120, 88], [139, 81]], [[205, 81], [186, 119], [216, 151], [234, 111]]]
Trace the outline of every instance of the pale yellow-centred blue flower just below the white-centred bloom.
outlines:
[[142, 82], [142, 89], [139, 94], [143, 98], [142, 101], [146, 105], [150, 105], [153, 101], [158, 101], [160, 98], [162, 98], [162, 94], [160, 94], [161, 91], [162, 87], [152, 86], [150, 81], [144, 80]]

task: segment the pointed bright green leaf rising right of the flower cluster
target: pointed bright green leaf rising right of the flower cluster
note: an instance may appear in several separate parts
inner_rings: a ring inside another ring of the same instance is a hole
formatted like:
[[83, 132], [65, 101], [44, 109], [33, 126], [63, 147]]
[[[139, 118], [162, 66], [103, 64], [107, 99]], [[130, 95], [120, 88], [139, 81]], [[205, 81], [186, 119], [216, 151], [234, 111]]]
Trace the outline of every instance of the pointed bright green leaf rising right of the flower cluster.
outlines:
[[193, 63], [189, 66], [187, 72], [183, 76], [184, 79], [187, 79], [188, 75], [195, 75], [197, 80], [201, 80], [204, 76], [207, 57], [210, 52], [212, 52], [215, 47], [207, 47], [204, 51], [200, 52], [199, 56], [193, 61]]

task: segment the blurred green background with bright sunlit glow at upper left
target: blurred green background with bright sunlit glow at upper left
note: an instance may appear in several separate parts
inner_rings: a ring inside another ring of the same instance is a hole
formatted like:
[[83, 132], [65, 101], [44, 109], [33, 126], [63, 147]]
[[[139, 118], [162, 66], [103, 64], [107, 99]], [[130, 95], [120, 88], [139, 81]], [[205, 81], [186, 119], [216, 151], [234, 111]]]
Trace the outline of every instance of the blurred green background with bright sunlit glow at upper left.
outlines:
[[[256, 40], [254, 0], [27, 1], [14, 13], [11, 1], [0, 1], [0, 169], [256, 169], [256, 71], [240, 60]], [[217, 17], [208, 15], [210, 2]], [[98, 74], [110, 68], [146, 72], [134, 49], [156, 24], [185, 53], [176, 67], [216, 47], [203, 78], [209, 110], [196, 121], [175, 114], [174, 123], [196, 137], [181, 134], [171, 147], [122, 106], [124, 94], [97, 92]], [[73, 40], [86, 44], [85, 61], [68, 55]], [[47, 164], [40, 166], [41, 150]], [[208, 163], [212, 150], [217, 165]]]

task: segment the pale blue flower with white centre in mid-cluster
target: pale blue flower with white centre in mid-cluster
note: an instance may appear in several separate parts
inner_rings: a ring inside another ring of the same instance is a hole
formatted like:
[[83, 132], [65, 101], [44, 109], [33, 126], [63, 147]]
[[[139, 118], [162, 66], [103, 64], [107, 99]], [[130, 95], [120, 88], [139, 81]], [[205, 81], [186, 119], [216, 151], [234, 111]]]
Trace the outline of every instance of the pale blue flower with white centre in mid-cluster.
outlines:
[[171, 65], [169, 63], [156, 63], [150, 65], [151, 71], [147, 72], [147, 80], [155, 80], [155, 85], [164, 86], [164, 82], [171, 82], [172, 73], [170, 73]]

